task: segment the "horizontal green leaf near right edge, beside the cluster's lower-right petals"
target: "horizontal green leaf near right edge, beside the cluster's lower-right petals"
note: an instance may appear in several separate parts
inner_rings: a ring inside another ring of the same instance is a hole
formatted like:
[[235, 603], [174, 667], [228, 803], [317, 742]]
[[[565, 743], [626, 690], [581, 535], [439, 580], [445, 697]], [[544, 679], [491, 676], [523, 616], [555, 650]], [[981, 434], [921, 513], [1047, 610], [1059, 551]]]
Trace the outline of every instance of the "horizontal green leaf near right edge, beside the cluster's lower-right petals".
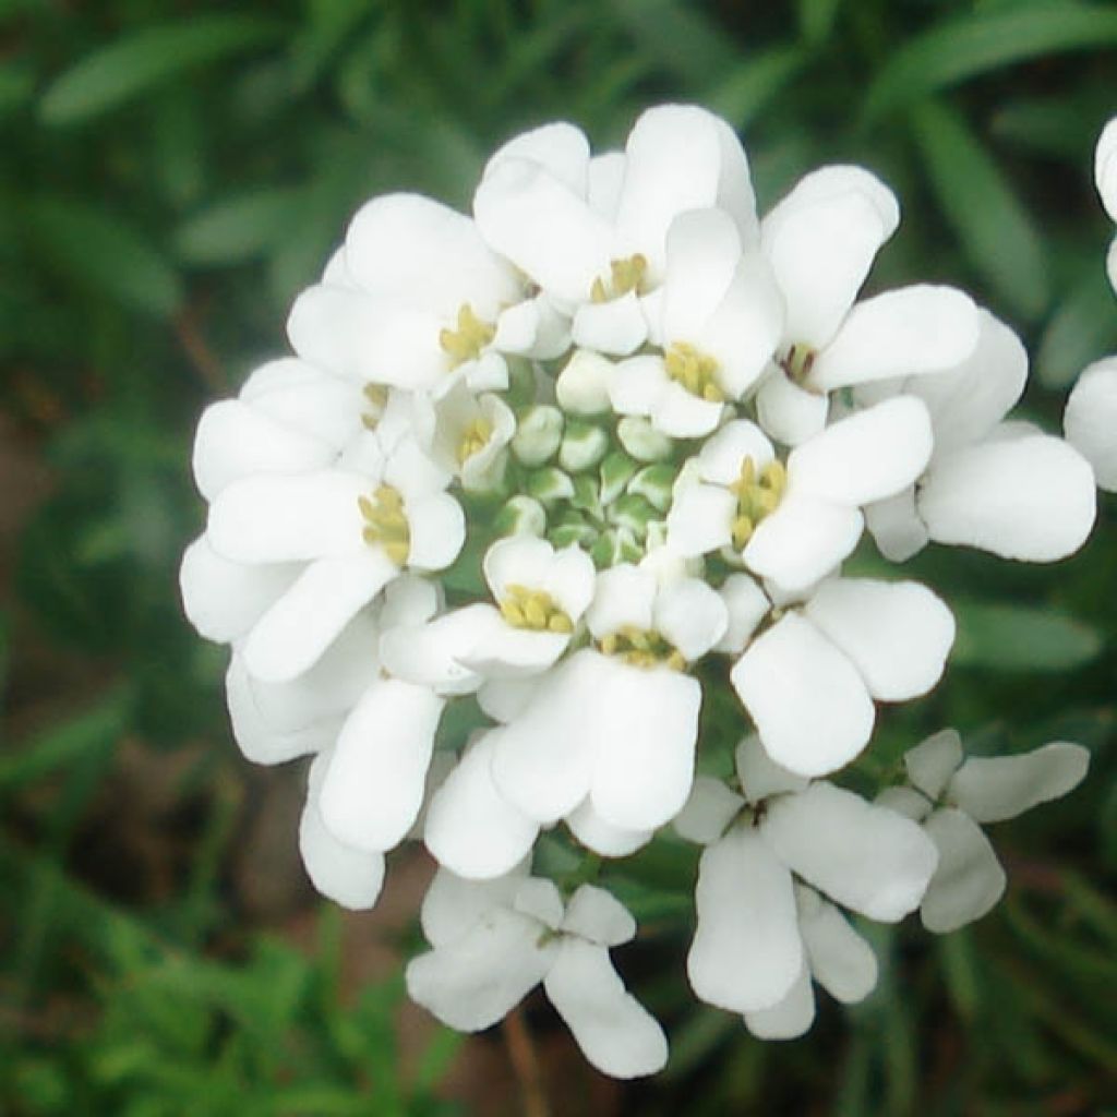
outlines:
[[1100, 636], [1073, 617], [1031, 605], [954, 602], [960, 667], [996, 671], [1069, 671], [1101, 651]]

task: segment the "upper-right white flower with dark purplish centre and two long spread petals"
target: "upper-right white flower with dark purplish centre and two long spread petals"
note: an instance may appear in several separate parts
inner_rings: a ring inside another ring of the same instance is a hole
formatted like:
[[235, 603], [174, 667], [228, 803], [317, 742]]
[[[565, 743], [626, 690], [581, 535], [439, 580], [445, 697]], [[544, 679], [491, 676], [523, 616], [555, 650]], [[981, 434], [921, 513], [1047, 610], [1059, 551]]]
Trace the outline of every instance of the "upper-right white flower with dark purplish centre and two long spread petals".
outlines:
[[764, 218], [761, 245], [786, 317], [780, 367], [756, 402], [779, 441], [817, 435], [834, 389], [948, 369], [973, 350], [976, 311], [954, 288], [918, 285], [855, 303], [898, 221], [888, 188], [856, 166], [808, 174]]

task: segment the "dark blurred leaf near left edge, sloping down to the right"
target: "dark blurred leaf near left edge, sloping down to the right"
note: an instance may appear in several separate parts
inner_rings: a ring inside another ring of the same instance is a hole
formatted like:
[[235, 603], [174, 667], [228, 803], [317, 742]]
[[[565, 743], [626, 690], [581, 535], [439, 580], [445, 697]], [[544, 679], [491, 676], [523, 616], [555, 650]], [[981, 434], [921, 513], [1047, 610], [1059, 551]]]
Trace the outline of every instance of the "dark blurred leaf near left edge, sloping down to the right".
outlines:
[[182, 302], [178, 273], [128, 221], [87, 202], [38, 198], [28, 231], [48, 262], [87, 289], [169, 317]]

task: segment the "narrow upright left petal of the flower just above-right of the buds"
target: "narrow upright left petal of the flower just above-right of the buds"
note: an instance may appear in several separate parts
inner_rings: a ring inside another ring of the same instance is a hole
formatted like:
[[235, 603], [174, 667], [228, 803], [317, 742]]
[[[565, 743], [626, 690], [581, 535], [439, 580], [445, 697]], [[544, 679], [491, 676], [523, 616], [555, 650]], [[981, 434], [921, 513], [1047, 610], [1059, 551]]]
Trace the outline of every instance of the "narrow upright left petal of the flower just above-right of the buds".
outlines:
[[672, 342], [697, 341], [720, 305], [741, 257], [741, 239], [728, 213], [680, 213], [667, 233], [662, 333]]

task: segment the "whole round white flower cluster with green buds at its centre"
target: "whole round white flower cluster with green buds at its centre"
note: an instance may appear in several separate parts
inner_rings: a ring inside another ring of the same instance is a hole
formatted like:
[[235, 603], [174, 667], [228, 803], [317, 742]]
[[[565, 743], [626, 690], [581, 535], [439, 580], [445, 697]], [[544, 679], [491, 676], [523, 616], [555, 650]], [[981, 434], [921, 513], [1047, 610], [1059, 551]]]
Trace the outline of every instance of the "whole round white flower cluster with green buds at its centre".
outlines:
[[[799, 1034], [812, 981], [875, 984], [840, 908], [978, 917], [1003, 875], [977, 824], [1081, 779], [1077, 746], [963, 763], [955, 737], [877, 802], [830, 779], [955, 634], [926, 586], [842, 573], [866, 528], [894, 562], [1052, 562], [1095, 517], [1079, 452], [1006, 418], [1028, 374], [1006, 325], [949, 287], [861, 296], [898, 221], [855, 166], [760, 218], [700, 108], [598, 155], [547, 125], [489, 160], [472, 217], [365, 204], [292, 309], [296, 355], [202, 416], [182, 594], [230, 646], [236, 738], [314, 757], [299, 844], [337, 903], [372, 906], [384, 855], [426, 843], [408, 987], [451, 1027], [542, 982], [596, 1067], [659, 1069], [608, 890], [658, 833], [701, 847], [696, 995]], [[557, 879], [543, 832], [581, 857]]]

